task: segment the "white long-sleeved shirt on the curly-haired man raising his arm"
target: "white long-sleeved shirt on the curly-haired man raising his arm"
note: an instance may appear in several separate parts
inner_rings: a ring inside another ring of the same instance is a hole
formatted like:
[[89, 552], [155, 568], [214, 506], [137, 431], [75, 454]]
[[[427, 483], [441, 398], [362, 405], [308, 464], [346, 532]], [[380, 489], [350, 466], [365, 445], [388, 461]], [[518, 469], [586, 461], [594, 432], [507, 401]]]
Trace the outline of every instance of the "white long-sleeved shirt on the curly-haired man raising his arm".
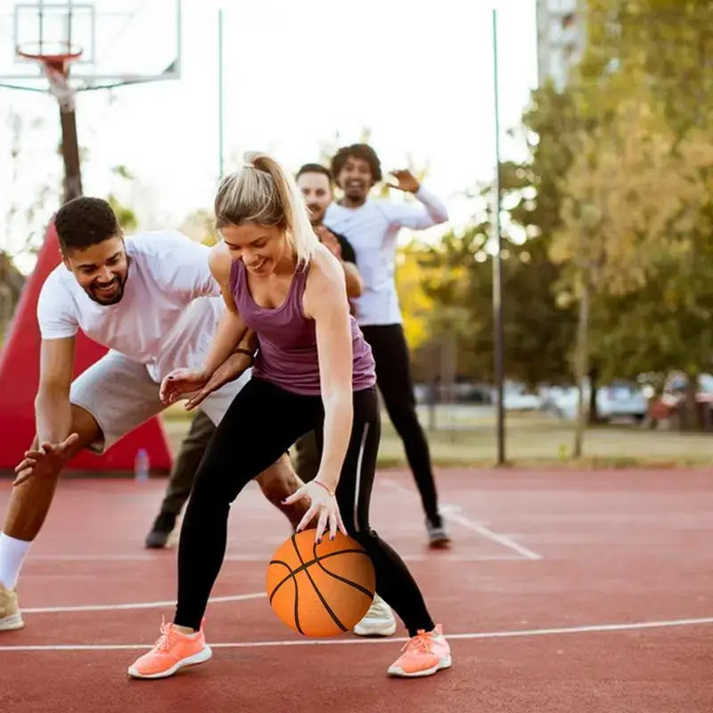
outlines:
[[446, 206], [423, 187], [414, 195], [422, 205], [369, 200], [344, 208], [332, 203], [324, 214], [324, 225], [344, 235], [356, 253], [364, 281], [364, 294], [355, 300], [359, 324], [401, 323], [394, 282], [398, 231], [423, 230], [448, 219]]

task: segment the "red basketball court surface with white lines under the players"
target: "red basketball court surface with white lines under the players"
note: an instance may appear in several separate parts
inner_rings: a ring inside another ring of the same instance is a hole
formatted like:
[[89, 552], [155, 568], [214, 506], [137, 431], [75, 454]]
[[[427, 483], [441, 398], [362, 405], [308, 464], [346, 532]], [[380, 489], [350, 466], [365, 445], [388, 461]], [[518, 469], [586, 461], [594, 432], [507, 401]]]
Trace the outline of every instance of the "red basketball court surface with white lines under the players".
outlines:
[[[410, 476], [381, 471], [373, 525], [443, 622], [452, 669], [386, 668], [405, 638], [293, 634], [264, 594], [289, 526], [250, 486], [209, 605], [213, 659], [173, 678], [127, 666], [170, 619], [176, 550], [143, 549], [163, 479], [67, 479], [20, 581], [26, 627], [0, 635], [0, 710], [713, 710], [713, 475], [440, 471], [450, 552], [424, 545]], [[0, 509], [10, 481], [0, 481]]]

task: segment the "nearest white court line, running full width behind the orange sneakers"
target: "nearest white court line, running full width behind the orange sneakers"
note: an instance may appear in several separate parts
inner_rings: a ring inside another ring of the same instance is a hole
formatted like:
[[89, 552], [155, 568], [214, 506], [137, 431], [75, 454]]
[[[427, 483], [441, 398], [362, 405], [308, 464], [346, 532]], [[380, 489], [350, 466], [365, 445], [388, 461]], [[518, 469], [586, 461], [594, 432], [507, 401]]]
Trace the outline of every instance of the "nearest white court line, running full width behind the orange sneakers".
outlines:
[[[713, 617], [703, 619], [668, 619], [664, 621], [636, 621], [628, 624], [593, 624], [583, 627], [553, 627], [543, 629], [515, 629], [512, 631], [482, 631], [467, 634], [447, 634], [449, 641], [473, 639], [504, 639], [524, 636], [549, 636], [557, 634], [595, 634], [602, 632], [635, 631], [669, 627], [695, 627], [713, 624]], [[210, 643], [211, 649], [257, 649], [268, 646], [337, 646], [368, 645], [373, 643], [403, 643], [406, 636], [382, 639], [289, 639], [284, 641], [241, 641]], [[145, 643], [58, 643], [27, 646], [0, 646], [0, 652], [111, 652], [127, 649], [150, 649]]]

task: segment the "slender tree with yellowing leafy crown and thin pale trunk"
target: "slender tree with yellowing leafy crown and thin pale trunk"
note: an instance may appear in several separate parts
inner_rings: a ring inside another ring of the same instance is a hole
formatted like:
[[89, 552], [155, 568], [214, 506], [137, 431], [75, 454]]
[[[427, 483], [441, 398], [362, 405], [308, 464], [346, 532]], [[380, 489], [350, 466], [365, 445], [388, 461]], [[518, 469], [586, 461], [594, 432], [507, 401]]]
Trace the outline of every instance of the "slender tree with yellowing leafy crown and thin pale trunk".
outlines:
[[579, 307], [576, 456], [585, 422], [581, 389], [589, 372], [591, 304], [604, 294], [642, 287], [660, 256], [671, 250], [671, 231], [685, 221], [673, 135], [648, 99], [640, 93], [622, 101], [606, 125], [569, 137], [576, 151], [562, 180], [561, 226], [551, 254], [569, 267], [566, 275]]

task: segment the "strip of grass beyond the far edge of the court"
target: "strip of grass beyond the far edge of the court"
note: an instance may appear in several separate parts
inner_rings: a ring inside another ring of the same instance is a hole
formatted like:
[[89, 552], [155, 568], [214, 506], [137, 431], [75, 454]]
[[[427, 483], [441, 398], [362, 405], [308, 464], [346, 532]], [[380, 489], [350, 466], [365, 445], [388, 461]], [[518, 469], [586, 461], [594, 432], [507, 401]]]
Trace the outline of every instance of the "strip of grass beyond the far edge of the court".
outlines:
[[[424, 427], [429, 423], [419, 410]], [[177, 448], [188, 426], [179, 406], [165, 419], [171, 444]], [[438, 410], [436, 430], [427, 430], [431, 457], [440, 466], [488, 467], [496, 462], [495, 418], [485, 409]], [[518, 467], [630, 468], [696, 466], [713, 462], [713, 434], [651, 430], [637, 425], [604, 425], [586, 430], [584, 457], [570, 457], [573, 424], [541, 414], [507, 414], [505, 453]], [[406, 465], [400, 439], [388, 417], [382, 422], [380, 467]]]

